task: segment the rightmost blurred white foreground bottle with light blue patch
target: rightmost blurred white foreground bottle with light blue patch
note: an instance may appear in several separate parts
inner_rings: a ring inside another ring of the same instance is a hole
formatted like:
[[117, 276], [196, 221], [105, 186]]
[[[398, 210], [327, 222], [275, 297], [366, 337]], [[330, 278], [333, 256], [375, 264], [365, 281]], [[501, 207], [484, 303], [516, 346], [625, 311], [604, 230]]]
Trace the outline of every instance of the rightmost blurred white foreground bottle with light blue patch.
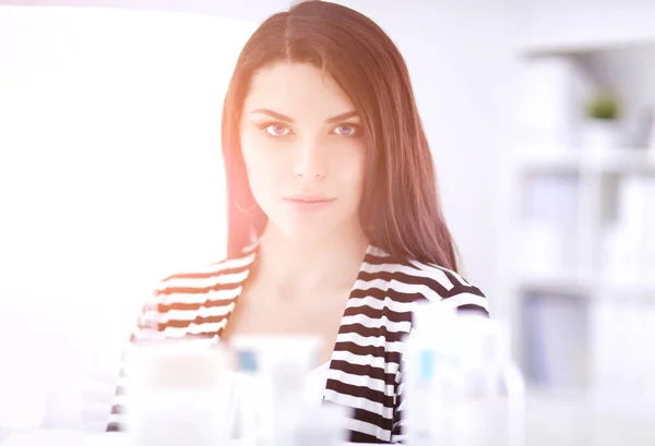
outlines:
[[407, 342], [409, 446], [523, 446], [524, 383], [505, 327], [419, 305]]

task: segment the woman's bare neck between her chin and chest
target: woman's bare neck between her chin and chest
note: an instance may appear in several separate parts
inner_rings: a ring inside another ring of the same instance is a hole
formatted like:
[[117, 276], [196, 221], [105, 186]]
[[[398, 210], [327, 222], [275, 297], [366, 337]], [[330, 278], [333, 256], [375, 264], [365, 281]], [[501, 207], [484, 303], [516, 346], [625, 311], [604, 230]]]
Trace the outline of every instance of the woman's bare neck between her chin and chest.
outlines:
[[269, 224], [260, 239], [254, 280], [288, 297], [349, 289], [368, 244], [359, 225], [318, 240], [296, 240]]

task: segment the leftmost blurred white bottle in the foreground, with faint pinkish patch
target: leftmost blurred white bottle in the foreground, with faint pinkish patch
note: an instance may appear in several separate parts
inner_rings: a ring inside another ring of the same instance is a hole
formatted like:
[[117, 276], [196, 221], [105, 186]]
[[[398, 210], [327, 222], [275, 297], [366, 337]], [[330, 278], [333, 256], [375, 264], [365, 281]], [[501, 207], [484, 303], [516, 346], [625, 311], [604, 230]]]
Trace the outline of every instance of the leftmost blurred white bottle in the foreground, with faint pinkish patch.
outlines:
[[227, 355], [200, 339], [140, 346], [128, 359], [127, 431], [132, 446], [212, 446], [229, 437]]

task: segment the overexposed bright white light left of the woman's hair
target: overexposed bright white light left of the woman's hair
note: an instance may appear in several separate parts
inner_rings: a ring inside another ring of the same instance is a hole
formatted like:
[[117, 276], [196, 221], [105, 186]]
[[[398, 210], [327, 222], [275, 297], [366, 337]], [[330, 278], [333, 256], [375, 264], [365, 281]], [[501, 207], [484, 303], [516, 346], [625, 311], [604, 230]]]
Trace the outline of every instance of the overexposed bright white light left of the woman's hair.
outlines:
[[221, 109], [255, 26], [0, 7], [4, 310], [27, 296], [130, 306], [165, 275], [221, 260]]

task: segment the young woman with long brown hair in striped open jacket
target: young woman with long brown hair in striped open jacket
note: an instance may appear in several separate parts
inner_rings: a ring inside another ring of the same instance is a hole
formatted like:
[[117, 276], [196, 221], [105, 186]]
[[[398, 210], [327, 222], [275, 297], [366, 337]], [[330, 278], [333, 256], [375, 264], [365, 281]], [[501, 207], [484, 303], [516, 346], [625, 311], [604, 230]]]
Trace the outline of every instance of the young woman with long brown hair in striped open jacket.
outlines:
[[397, 48], [338, 4], [271, 16], [238, 59], [223, 154], [228, 258], [165, 279], [133, 339], [320, 336], [318, 402], [353, 409], [352, 442], [401, 441], [412, 306], [488, 309], [457, 274]]

